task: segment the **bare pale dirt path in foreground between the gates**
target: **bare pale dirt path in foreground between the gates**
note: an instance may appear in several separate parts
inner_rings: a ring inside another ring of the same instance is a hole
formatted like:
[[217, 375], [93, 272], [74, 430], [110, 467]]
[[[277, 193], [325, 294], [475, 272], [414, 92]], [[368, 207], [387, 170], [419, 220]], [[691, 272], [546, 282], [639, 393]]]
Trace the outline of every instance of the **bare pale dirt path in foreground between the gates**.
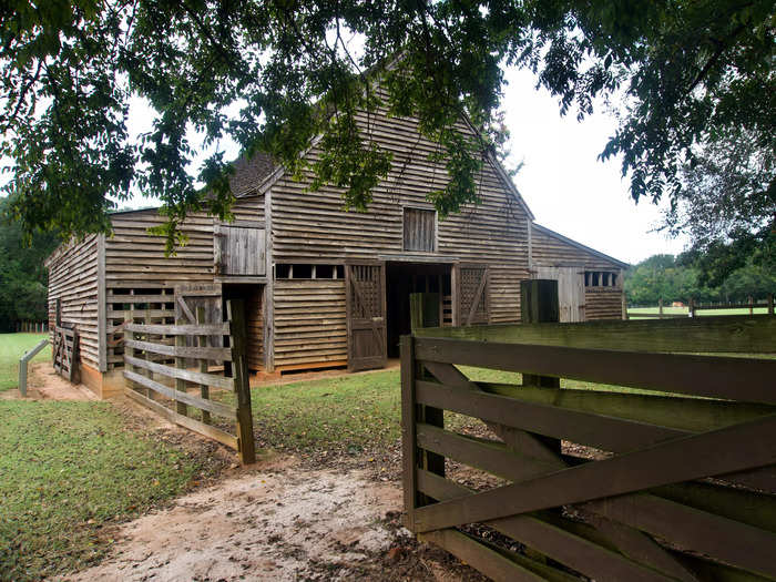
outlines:
[[106, 561], [62, 580], [483, 580], [417, 544], [400, 507], [366, 470], [275, 458], [125, 524]]

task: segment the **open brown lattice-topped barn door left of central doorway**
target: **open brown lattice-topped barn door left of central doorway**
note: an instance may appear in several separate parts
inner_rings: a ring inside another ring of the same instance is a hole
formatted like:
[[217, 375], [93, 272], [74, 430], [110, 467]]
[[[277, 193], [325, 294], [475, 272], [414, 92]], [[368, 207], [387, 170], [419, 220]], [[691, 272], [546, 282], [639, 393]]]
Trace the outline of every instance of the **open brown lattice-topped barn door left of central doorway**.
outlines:
[[382, 368], [387, 359], [385, 263], [345, 265], [348, 369]]

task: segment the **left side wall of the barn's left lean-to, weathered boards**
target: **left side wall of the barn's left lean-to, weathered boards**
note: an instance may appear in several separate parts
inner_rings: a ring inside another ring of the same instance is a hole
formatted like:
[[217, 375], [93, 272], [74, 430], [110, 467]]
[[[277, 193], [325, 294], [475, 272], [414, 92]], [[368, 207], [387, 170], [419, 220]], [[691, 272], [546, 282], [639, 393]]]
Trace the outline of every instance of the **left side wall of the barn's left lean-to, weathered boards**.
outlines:
[[98, 331], [98, 245], [100, 237], [61, 245], [47, 264], [49, 267], [49, 328], [57, 320], [57, 299], [61, 300], [62, 323], [75, 324], [80, 336], [81, 361], [99, 368]]

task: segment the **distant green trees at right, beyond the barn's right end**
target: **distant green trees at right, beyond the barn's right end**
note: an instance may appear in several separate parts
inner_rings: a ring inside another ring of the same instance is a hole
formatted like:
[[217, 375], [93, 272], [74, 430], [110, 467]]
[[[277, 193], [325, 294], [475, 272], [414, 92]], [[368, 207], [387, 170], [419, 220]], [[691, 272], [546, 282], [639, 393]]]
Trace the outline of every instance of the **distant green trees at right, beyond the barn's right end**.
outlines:
[[629, 305], [657, 305], [660, 299], [687, 303], [739, 303], [748, 297], [765, 299], [776, 294], [776, 273], [752, 261], [745, 263], [719, 285], [704, 284], [702, 269], [686, 256], [653, 255], [625, 272], [625, 295]]

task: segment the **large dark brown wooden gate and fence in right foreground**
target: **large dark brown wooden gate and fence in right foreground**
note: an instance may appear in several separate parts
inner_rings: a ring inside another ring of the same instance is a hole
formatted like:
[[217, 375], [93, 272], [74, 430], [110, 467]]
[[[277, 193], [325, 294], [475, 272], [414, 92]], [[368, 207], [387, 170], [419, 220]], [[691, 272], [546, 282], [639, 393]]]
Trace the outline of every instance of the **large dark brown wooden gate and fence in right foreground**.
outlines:
[[776, 579], [773, 319], [402, 338], [407, 527], [494, 580]]

